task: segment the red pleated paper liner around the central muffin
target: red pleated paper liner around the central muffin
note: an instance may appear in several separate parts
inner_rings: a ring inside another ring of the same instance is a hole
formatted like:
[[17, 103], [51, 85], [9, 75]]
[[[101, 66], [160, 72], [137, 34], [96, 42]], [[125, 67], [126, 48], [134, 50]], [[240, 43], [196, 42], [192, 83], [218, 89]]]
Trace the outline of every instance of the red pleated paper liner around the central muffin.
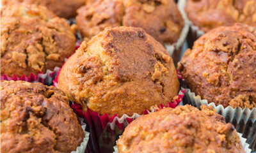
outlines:
[[[58, 75], [59, 74], [60, 71], [58, 72]], [[58, 75], [53, 81], [54, 86], [56, 87], [58, 87]], [[156, 112], [164, 107], [175, 108], [179, 105], [186, 90], [182, 87], [182, 85], [184, 85], [184, 79], [180, 78], [180, 75], [178, 75], [178, 78], [181, 87], [177, 98], [166, 106], [163, 104], [159, 106], [152, 106], [150, 110], [144, 110], [143, 115], [150, 112]], [[88, 122], [86, 131], [90, 132], [90, 140], [88, 142], [86, 152], [113, 152], [113, 146], [115, 145], [118, 135], [122, 135], [125, 127], [130, 124], [132, 120], [141, 117], [138, 113], [134, 113], [132, 116], [124, 114], [122, 117], [118, 117], [115, 114], [109, 117], [107, 113], [99, 115], [98, 112], [92, 112], [89, 108], [87, 108], [87, 112], [84, 113], [82, 106], [76, 103], [72, 103], [72, 108], [78, 117], [81, 117]]]

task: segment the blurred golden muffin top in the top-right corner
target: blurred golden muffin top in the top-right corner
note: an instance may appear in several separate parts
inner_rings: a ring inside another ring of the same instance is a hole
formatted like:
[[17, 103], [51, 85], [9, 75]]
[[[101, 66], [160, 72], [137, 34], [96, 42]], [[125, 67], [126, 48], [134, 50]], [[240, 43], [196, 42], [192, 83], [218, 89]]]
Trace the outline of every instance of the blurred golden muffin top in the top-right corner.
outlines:
[[236, 22], [256, 27], [256, 0], [188, 0], [185, 10], [204, 32]]

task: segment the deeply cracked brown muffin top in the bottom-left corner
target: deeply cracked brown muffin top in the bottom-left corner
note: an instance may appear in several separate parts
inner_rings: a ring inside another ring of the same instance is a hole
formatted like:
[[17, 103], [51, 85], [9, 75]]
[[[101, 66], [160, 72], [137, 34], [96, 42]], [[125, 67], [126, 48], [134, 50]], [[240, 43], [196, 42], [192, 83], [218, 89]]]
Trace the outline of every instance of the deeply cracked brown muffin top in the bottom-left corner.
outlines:
[[1, 81], [1, 152], [71, 152], [84, 132], [68, 98], [41, 83]]

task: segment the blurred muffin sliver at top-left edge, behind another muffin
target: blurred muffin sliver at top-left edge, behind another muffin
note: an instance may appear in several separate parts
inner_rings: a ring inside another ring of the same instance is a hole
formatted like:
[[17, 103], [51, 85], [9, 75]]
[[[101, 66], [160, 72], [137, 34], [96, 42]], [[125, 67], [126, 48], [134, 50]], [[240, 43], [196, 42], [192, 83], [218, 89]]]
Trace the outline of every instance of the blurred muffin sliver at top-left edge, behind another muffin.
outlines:
[[29, 3], [46, 6], [56, 15], [63, 18], [76, 17], [76, 10], [85, 4], [86, 0], [2, 0], [3, 5]]

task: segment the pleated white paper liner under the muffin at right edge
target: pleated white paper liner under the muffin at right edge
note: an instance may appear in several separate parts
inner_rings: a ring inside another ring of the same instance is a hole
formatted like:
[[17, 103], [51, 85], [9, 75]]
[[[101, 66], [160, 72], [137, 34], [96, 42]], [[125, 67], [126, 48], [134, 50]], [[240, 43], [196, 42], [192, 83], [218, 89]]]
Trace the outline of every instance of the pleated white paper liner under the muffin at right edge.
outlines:
[[206, 99], [201, 99], [200, 96], [196, 96], [190, 89], [186, 89], [185, 96], [183, 98], [185, 104], [196, 106], [200, 109], [201, 105], [212, 105], [216, 112], [223, 115], [226, 122], [232, 123], [237, 132], [242, 133], [243, 137], [247, 139], [247, 143], [250, 144], [252, 150], [256, 150], [256, 108], [250, 110], [249, 108], [236, 107], [232, 108], [223, 105], [215, 105], [214, 103], [208, 103]]

